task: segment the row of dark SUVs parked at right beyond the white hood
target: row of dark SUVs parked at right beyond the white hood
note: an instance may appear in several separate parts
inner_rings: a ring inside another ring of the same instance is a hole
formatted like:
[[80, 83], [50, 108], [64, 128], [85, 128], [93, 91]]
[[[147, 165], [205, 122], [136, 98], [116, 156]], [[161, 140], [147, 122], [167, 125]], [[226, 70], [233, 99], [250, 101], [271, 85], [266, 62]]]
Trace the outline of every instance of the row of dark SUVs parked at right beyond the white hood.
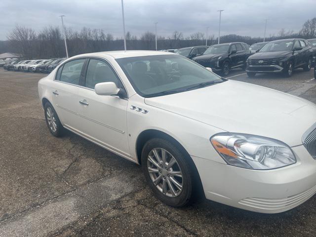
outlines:
[[234, 68], [246, 70], [249, 77], [257, 73], [283, 73], [291, 77], [294, 69], [309, 71], [315, 64], [316, 39], [275, 40], [251, 46], [244, 42], [231, 42], [180, 48], [175, 53], [224, 77]]

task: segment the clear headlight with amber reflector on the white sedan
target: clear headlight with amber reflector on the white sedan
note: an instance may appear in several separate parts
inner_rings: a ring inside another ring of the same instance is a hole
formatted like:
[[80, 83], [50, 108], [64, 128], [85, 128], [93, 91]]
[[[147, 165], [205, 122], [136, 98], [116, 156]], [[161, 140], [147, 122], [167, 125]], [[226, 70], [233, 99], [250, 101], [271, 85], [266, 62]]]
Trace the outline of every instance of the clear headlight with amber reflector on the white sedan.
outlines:
[[219, 133], [211, 143], [220, 156], [231, 165], [248, 169], [276, 169], [294, 164], [291, 149], [275, 139], [249, 134]]

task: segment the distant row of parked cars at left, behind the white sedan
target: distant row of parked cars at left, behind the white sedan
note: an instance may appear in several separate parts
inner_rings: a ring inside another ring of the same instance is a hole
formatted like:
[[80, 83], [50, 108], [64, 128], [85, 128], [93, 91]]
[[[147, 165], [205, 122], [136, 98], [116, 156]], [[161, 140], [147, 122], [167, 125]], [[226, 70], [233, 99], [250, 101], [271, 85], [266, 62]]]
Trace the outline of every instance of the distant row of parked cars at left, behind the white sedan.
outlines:
[[10, 64], [3, 66], [4, 70], [34, 72], [34, 73], [50, 73], [66, 58], [52, 58], [40, 60], [14, 60]]

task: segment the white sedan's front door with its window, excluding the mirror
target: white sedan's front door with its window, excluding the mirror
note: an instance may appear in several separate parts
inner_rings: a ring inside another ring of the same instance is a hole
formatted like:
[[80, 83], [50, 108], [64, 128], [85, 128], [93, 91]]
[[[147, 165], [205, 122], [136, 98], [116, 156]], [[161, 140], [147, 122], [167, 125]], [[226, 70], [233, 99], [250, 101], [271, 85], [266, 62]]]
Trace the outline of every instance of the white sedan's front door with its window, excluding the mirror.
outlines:
[[118, 87], [122, 84], [112, 67], [100, 59], [89, 59], [84, 87], [80, 88], [79, 114], [84, 122], [81, 132], [91, 140], [109, 150], [129, 156], [126, 110], [127, 99], [118, 96], [97, 95], [94, 86], [100, 82], [113, 81]]

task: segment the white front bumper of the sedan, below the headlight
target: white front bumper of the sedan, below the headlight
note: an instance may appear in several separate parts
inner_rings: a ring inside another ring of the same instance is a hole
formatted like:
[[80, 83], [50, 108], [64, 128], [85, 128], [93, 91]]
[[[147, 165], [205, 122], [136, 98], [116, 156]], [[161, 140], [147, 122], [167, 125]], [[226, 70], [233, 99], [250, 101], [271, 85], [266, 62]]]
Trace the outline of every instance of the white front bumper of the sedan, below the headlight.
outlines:
[[272, 170], [251, 170], [192, 157], [207, 199], [237, 208], [279, 213], [316, 193], [316, 160], [303, 145], [293, 147], [295, 164]]

